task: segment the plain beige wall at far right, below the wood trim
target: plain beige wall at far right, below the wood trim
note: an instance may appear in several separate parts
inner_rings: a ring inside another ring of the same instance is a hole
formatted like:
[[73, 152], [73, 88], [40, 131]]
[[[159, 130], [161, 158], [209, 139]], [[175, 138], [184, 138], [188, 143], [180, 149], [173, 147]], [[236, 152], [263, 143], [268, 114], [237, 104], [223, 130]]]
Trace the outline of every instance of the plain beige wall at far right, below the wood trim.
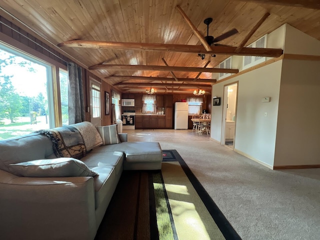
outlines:
[[318, 61], [283, 60], [275, 166], [320, 164]]

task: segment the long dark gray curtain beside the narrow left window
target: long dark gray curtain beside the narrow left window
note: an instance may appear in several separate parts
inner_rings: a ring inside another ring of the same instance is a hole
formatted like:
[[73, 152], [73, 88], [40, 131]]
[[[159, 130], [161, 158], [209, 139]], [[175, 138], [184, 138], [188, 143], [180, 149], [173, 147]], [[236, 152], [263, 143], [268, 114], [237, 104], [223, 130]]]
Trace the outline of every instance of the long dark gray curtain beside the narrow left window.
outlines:
[[85, 120], [82, 69], [73, 62], [67, 63], [69, 75], [68, 113], [69, 124]]

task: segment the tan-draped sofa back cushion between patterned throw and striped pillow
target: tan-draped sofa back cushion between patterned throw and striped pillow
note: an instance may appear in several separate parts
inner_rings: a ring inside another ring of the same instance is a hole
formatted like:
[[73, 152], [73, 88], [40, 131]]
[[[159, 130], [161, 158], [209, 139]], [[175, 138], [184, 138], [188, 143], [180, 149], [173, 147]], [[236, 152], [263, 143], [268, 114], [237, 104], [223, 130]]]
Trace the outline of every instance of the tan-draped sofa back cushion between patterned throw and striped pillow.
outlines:
[[99, 132], [96, 130], [95, 126], [89, 121], [82, 121], [79, 123], [72, 124], [81, 134], [85, 149], [87, 151], [94, 147], [103, 144], [102, 138]]

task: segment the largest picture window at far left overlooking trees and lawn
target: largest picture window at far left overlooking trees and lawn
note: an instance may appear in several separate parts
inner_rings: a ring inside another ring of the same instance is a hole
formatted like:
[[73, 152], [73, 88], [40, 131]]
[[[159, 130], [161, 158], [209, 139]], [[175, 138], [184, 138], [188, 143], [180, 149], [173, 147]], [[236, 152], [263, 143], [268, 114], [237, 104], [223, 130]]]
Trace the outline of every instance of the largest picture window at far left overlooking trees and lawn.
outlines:
[[0, 139], [54, 127], [52, 66], [0, 44]]

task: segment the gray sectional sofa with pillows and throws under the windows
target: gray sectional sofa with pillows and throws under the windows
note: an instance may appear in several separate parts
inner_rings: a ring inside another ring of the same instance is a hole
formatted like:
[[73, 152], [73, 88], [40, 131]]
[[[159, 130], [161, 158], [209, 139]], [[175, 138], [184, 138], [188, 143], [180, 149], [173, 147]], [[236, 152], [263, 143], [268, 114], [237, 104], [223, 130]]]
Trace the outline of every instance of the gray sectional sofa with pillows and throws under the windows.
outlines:
[[128, 142], [116, 125], [2, 140], [1, 239], [93, 239], [122, 170], [161, 169], [161, 161], [158, 142]]

